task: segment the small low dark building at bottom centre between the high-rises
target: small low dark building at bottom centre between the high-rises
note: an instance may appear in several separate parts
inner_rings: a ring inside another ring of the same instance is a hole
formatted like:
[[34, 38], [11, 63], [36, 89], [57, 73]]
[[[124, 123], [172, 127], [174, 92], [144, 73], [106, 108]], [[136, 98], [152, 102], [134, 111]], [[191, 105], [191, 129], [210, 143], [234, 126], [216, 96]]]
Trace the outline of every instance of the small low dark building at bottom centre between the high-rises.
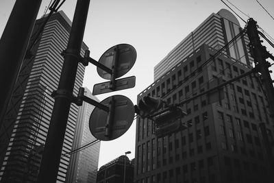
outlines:
[[120, 156], [100, 167], [97, 171], [97, 183], [123, 183], [125, 169], [125, 183], [134, 181], [134, 164], [127, 156]]

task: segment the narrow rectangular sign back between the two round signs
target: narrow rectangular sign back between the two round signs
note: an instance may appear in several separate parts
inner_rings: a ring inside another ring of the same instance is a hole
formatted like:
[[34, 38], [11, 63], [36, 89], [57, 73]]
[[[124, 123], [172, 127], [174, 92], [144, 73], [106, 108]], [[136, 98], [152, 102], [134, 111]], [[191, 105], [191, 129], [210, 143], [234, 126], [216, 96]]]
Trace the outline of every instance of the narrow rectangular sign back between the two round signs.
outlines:
[[110, 93], [118, 90], [125, 90], [127, 88], [134, 88], [136, 82], [136, 77], [125, 77], [119, 80], [115, 80], [115, 88], [110, 88], [110, 82], [103, 82], [95, 84], [93, 86], [92, 95], [99, 95], [102, 93]]

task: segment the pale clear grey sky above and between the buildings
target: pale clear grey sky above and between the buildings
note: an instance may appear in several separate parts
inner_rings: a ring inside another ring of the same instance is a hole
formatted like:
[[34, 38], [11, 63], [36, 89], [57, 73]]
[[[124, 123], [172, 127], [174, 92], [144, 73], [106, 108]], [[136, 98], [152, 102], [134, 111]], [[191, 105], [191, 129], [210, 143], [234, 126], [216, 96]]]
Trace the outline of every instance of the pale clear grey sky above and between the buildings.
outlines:
[[[265, 32], [274, 38], [274, 19], [271, 17], [274, 17], [274, 1], [258, 0], [271, 16], [257, 0], [223, 1], [245, 21], [248, 19], [247, 16], [252, 17]], [[0, 1], [0, 35], [8, 21], [14, 2], [15, 0]], [[38, 18], [42, 16], [49, 2], [49, 0], [42, 0]], [[60, 8], [71, 21], [75, 5], [76, 0], [66, 0]], [[154, 66], [210, 14], [219, 12], [223, 8], [229, 10], [221, 0], [91, 1], [84, 33], [84, 42], [90, 49], [90, 57], [99, 60], [107, 49], [121, 43], [132, 45], [137, 51], [135, 65], [123, 76], [135, 75], [136, 86], [127, 90], [97, 95], [97, 97], [103, 100], [112, 95], [125, 95], [136, 104], [137, 95], [153, 83]], [[241, 27], [245, 27], [245, 23], [238, 20]], [[266, 48], [274, 54], [273, 48], [269, 45], [266, 45]], [[269, 61], [273, 63], [272, 60]], [[272, 78], [274, 78], [273, 75]], [[86, 67], [83, 86], [92, 90], [93, 86], [100, 82], [107, 82], [107, 80], [99, 77], [96, 67], [89, 64]], [[132, 152], [127, 154], [129, 159], [134, 158], [135, 134], [136, 121], [120, 138], [101, 142], [99, 167], [124, 155], [125, 151]]]

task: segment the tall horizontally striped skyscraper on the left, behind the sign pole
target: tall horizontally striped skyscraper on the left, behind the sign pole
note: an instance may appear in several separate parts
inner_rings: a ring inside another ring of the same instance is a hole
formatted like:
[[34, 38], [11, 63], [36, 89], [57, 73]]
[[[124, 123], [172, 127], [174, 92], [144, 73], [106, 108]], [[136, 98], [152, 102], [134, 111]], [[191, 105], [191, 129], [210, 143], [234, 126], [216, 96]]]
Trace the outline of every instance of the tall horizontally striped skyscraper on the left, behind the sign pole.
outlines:
[[[45, 19], [36, 21], [32, 38]], [[64, 60], [60, 53], [66, 49], [70, 29], [71, 21], [64, 12], [53, 14], [32, 49], [33, 56], [23, 61], [1, 127], [0, 182], [36, 182], [54, 104], [51, 93], [58, 88]], [[83, 43], [82, 56], [85, 49]], [[74, 95], [82, 86], [83, 78], [84, 66], [79, 64]], [[62, 154], [72, 149], [77, 110], [78, 107], [71, 104]], [[62, 156], [57, 182], [65, 181], [69, 160], [70, 156]]]

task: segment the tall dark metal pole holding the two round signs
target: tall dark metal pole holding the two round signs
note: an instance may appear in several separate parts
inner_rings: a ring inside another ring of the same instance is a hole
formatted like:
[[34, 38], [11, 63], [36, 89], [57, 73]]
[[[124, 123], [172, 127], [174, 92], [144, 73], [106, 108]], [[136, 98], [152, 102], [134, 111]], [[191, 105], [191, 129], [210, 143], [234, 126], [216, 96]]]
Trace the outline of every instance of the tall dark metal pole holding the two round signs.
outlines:
[[78, 0], [37, 182], [56, 182], [90, 0]]

